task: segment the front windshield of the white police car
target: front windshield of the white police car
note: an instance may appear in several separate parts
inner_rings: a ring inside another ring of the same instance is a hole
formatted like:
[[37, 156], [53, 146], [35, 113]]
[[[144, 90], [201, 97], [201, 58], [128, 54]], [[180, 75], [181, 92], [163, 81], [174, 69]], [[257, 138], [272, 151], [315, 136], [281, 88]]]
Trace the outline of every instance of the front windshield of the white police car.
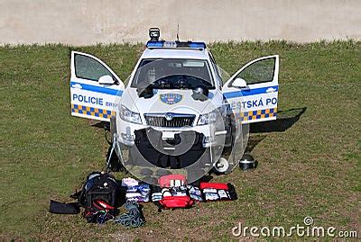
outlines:
[[185, 58], [144, 58], [137, 68], [131, 87], [155, 89], [214, 89], [207, 60]]

